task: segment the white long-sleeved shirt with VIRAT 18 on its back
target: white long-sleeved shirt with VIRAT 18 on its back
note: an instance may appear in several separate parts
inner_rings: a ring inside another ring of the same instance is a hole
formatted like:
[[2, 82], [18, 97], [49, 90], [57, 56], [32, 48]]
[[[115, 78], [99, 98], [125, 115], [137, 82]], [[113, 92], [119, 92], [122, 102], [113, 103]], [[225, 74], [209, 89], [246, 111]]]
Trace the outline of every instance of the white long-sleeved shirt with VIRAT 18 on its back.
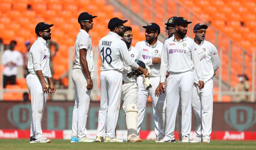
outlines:
[[130, 56], [124, 41], [114, 32], [110, 31], [108, 35], [100, 39], [99, 53], [101, 59], [100, 71], [116, 70], [122, 72], [124, 63], [133, 69], [139, 68], [139, 65]]

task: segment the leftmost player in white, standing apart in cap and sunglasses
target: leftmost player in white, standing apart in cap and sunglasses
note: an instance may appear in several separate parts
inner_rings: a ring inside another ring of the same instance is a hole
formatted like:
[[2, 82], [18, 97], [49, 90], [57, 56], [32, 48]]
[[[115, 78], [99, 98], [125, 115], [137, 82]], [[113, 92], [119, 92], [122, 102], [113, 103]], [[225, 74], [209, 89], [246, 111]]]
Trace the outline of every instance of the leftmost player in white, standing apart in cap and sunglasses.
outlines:
[[[40, 22], [36, 25], [35, 31], [38, 35], [37, 40], [29, 50], [28, 72], [26, 77], [28, 91], [31, 96], [31, 128], [29, 143], [50, 143], [43, 135], [41, 123], [46, 98], [48, 93], [55, 93], [55, 86], [52, 83], [50, 70], [50, 50], [47, 47], [51, 39], [51, 29], [53, 25]], [[49, 91], [51, 90], [51, 91]]]

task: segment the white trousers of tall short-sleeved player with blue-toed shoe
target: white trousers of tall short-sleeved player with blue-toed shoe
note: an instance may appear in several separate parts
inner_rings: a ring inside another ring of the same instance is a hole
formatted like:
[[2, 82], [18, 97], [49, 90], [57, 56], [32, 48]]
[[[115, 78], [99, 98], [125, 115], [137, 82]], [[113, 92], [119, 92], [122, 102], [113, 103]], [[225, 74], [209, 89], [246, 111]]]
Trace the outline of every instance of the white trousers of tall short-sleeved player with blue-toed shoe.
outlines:
[[72, 116], [72, 137], [82, 139], [87, 135], [86, 121], [90, 105], [91, 90], [87, 90], [87, 76], [81, 69], [73, 69], [72, 80], [75, 88], [75, 105]]

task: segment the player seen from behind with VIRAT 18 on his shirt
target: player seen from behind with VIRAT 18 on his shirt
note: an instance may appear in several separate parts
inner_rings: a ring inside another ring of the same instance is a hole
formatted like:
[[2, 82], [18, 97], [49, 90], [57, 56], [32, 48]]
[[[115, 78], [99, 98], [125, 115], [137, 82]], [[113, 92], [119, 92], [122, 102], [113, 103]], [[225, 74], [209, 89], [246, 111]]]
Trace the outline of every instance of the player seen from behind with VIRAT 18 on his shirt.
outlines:
[[124, 36], [125, 22], [127, 20], [116, 17], [110, 19], [108, 23], [110, 32], [99, 42], [101, 95], [96, 142], [101, 142], [105, 132], [104, 142], [122, 142], [116, 139], [115, 129], [121, 105], [124, 63], [148, 77], [148, 70], [143, 69], [133, 60], [126, 44], [121, 40]]

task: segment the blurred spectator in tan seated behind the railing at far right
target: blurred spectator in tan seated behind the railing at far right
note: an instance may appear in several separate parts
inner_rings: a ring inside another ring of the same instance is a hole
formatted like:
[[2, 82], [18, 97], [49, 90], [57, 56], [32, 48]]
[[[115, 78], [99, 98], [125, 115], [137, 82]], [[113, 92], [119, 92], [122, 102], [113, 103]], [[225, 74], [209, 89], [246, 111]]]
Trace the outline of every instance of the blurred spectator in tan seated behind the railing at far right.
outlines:
[[[248, 77], [245, 74], [238, 76], [239, 83], [235, 86], [235, 92], [249, 91], [250, 84], [248, 83]], [[233, 99], [233, 102], [249, 102], [249, 98], [245, 94], [237, 94]]]

